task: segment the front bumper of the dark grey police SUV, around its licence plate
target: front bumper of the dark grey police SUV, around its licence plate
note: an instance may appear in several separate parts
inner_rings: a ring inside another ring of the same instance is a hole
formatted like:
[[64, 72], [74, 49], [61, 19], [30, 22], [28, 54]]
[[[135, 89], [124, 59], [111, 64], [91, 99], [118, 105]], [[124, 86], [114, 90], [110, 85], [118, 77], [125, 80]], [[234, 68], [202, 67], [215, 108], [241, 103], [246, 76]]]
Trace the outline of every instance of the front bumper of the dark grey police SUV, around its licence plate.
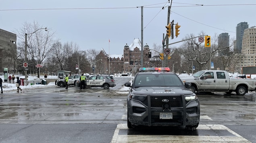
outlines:
[[[182, 107], [170, 107], [164, 109], [144, 105], [140, 101], [131, 100], [128, 97], [128, 118], [132, 125], [145, 126], [193, 126], [200, 121], [200, 104], [198, 99], [186, 102], [184, 95], [181, 95]], [[150, 96], [148, 97], [150, 100]], [[172, 113], [173, 119], [160, 119], [160, 113]]]

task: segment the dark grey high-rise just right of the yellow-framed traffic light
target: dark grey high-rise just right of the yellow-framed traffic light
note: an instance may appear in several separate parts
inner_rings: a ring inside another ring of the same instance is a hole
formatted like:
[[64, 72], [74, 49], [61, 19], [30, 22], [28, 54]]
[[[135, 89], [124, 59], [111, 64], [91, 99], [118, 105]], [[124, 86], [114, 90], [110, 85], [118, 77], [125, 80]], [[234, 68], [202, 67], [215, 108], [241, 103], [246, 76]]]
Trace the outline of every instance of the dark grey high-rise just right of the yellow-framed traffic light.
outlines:
[[[223, 49], [219, 56], [228, 56], [229, 54], [229, 33], [221, 33], [218, 36], [218, 47]], [[225, 49], [225, 50], [224, 50]]]

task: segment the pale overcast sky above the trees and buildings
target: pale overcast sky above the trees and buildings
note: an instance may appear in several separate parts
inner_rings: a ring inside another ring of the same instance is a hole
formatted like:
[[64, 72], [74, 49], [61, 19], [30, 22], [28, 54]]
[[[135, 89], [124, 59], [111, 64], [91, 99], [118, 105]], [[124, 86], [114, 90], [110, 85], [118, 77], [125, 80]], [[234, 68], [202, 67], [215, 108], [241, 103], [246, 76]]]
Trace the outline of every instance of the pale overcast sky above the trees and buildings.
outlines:
[[[172, 2], [170, 21], [178, 22], [181, 27], [178, 38], [174, 36], [169, 43], [188, 34], [198, 36], [201, 31], [210, 36], [228, 32], [232, 39], [239, 22], [256, 26], [255, 0]], [[169, 5], [168, 0], [0, 0], [0, 28], [14, 32], [25, 22], [37, 21], [55, 31], [60, 42], [75, 42], [80, 50], [103, 48], [107, 53], [110, 49], [110, 54], [123, 54], [126, 43], [142, 39], [141, 6], [144, 7], [143, 44], [150, 47], [162, 44]]]

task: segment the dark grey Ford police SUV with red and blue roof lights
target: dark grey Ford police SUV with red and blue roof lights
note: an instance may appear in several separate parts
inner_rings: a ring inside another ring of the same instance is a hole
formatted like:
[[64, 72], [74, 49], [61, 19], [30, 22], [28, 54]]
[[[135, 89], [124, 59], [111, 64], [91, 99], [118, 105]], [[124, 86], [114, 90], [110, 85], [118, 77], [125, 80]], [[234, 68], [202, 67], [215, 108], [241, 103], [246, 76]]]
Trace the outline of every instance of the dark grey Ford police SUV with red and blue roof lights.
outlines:
[[139, 68], [127, 95], [127, 126], [185, 126], [195, 129], [200, 103], [170, 68]]

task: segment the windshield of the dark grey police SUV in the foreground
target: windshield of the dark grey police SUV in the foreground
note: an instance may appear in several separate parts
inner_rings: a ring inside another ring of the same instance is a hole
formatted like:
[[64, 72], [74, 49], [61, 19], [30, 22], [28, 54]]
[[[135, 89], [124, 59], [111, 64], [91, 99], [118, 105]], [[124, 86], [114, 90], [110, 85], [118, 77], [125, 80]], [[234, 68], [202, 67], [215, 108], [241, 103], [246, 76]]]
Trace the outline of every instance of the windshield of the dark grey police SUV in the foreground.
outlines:
[[136, 75], [134, 87], [173, 87], [184, 86], [175, 74], [150, 72]]

